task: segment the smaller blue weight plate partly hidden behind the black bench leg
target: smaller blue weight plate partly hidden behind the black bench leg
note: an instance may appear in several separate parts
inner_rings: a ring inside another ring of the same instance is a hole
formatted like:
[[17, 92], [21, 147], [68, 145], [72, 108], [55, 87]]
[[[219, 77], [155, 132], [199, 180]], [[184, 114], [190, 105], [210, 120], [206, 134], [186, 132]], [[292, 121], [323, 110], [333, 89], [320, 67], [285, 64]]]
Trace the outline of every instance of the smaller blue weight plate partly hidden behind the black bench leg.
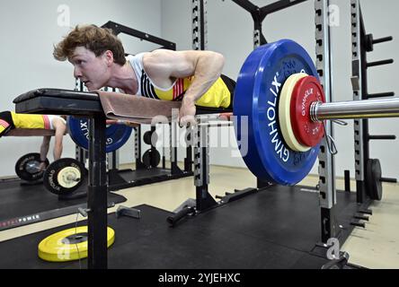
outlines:
[[[67, 118], [68, 133], [72, 140], [85, 150], [89, 149], [89, 121], [87, 118], [68, 117]], [[125, 144], [131, 135], [132, 128], [125, 125], [107, 126], [105, 131], [106, 148], [105, 152], [113, 152]]]

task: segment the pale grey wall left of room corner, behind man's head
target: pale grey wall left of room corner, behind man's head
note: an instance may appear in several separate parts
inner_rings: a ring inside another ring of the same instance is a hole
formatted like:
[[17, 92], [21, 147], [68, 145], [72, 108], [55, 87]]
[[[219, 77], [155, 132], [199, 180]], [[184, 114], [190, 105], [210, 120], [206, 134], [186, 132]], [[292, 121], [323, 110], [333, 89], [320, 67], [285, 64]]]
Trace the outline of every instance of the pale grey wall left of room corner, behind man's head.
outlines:
[[[0, 4], [1, 110], [13, 110], [13, 99], [25, 91], [42, 87], [75, 88], [73, 66], [68, 62], [54, 60], [52, 50], [53, 45], [76, 24], [102, 25], [111, 20], [155, 36], [161, 34], [160, 0], [1, 0]], [[70, 25], [67, 27], [59, 25], [66, 22], [62, 21], [65, 20], [62, 18], [65, 10], [58, 11], [61, 4], [69, 7]], [[121, 36], [121, 39], [129, 53], [156, 48], [127, 36]], [[3, 137], [0, 141], [0, 150], [3, 151], [0, 176], [13, 175], [15, 161], [27, 152], [39, 152], [40, 143], [39, 137]], [[133, 160], [133, 144], [131, 140], [129, 143], [120, 150], [122, 163]], [[63, 156], [75, 157], [75, 144], [69, 136], [65, 136]], [[49, 152], [49, 159], [52, 161], [52, 152]]]

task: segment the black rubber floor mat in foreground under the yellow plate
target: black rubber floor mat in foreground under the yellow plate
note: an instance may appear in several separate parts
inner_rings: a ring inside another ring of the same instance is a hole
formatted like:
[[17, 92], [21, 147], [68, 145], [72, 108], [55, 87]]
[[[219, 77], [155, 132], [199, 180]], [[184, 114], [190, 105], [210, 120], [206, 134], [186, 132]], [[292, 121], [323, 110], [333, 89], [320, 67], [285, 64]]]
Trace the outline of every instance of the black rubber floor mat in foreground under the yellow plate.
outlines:
[[[354, 196], [337, 193], [337, 218], [349, 213]], [[137, 208], [140, 219], [109, 214], [108, 225], [116, 232], [109, 268], [319, 269], [328, 262], [311, 252], [321, 236], [318, 194], [301, 187], [268, 188], [174, 228], [166, 222], [172, 213], [149, 205]], [[48, 263], [37, 256], [41, 239], [71, 227], [2, 242], [0, 268], [79, 268], [77, 262]], [[86, 268], [87, 260], [81, 265]]]

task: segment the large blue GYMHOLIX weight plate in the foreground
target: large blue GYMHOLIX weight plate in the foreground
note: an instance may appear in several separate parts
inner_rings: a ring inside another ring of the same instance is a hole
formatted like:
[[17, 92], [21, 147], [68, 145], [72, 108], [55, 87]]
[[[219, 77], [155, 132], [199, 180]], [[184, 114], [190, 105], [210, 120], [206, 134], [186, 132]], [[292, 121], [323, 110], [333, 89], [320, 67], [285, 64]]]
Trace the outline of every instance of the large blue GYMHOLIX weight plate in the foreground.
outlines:
[[235, 135], [244, 162], [257, 178], [280, 185], [295, 185], [305, 178], [319, 152], [319, 145], [307, 152], [290, 150], [279, 128], [279, 92], [290, 74], [301, 72], [318, 78], [306, 50], [282, 39], [253, 50], [235, 86]]

